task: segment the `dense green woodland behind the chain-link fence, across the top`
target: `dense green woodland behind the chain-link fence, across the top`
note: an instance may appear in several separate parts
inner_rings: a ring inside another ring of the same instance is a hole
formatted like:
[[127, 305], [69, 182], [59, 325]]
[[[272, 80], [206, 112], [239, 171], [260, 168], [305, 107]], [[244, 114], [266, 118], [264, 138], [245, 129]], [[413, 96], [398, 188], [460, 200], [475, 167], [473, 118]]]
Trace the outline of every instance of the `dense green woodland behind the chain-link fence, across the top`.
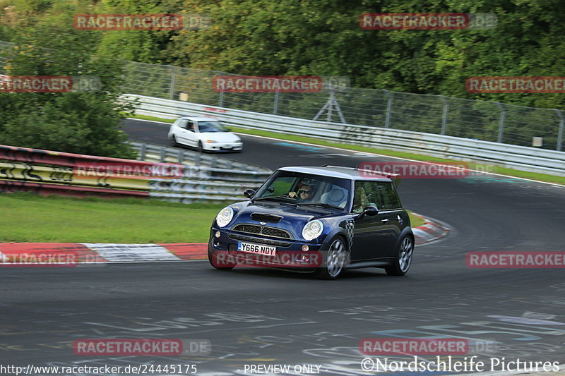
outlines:
[[[351, 79], [352, 87], [563, 109], [563, 95], [472, 94], [465, 90], [465, 79], [484, 75], [563, 75], [565, 24], [561, 22], [561, 9], [564, 8], [565, 0], [0, 0], [0, 40], [25, 42], [25, 31], [29, 34], [28, 42], [41, 44], [30, 51], [27, 59], [18, 57], [20, 71], [71, 69], [58, 60], [55, 65], [49, 65], [47, 59], [32, 58], [43, 56], [48, 47], [71, 46], [69, 51], [64, 51], [71, 53], [68, 62], [81, 61], [89, 72], [114, 75], [114, 83], [119, 81], [115, 80], [119, 78], [117, 68], [102, 61], [124, 59], [244, 75], [345, 75]], [[498, 25], [493, 30], [359, 28], [361, 13], [386, 12], [495, 13]], [[89, 32], [71, 28], [71, 18], [76, 13], [183, 13], [206, 16], [211, 25], [198, 30]], [[97, 66], [98, 63], [102, 65]], [[113, 84], [107, 82], [107, 85]], [[107, 90], [117, 91], [118, 85]], [[43, 99], [46, 103], [43, 106], [36, 103], [34, 96], [52, 99]], [[8, 121], [0, 125], [0, 132], [4, 132], [1, 135], [9, 139], [40, 113], [47, 120], [42, 121], [42, 133], [57, 133], [61, 123], [68, 124], [57, 136], [57, 140], [68, 140], [68, 147], [90, 140], [97, 134], [98, 125], [100, 129], [111, 128], [112, 121], [101, 115], [109, 111], [102, 103], [101, 112], [88, 114], [87, 107], [94, 105], [89, 101], [95, 100], [95, 96], [72, 97], [29, 95], [25, 100], [12, 101], [4, 95], [1, 106], [8, 114], [4, 117]], [[17, 111], [22, 112], [26, 103], [25, 115], [13, 117]], [[313, 108], [319, 108], [318, 104]], [[54, 114], [61, 109], [66, 109], [66, 114], [55, 121]], [[87, 116], [83, 116], [84, 111]], [[482, 110], [475, 108], [458, 111], [461, 114], [470, 111], [471, 117], [482, 114]], [[380, 119], [379, 114], [367, 116], [369, 123]], [[517, 121], [521, 121], [529, 114], [517, 116]], [[524, 121], [523, 126], [519, 123], [513, 130], [517, 135], [524, 134], [521, 142], [530, 142], [528, 129], [539, 122], [530, 120]], [[497, 126], [496, 116], [485, 122], [472, 137], [480, 137], [488, 127]], [[471, 137], [464, 129], [452, 127], [451, 130]], [[553, 133], [548, 131], [545, 137], [551, 134], [554, 138]], [[108, 139], [107, 133], [100, 135]], [[33, 135], [25, 137], [28, 140]], [[109, 138], [109, 143], [119, 140], [118, 133]]]

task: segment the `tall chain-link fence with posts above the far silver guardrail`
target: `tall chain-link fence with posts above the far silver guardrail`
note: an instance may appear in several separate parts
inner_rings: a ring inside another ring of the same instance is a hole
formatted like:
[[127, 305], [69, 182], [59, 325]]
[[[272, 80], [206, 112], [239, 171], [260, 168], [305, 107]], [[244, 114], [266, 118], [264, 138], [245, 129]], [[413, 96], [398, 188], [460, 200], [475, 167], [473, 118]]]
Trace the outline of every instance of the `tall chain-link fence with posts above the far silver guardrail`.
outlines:
[[[0, 42], [2, 49], [11, 44]], [[0, 66], [2, 66], [0, 57]], [[562, 150], [564, 114], [499, 102], [360, 89], [330, 92], [215, 92], [213, 77], [233, 75], [178, 66], [124, 64], [123, 92], [210, 106], [338, 121], [361, 126], [400, 129]]]

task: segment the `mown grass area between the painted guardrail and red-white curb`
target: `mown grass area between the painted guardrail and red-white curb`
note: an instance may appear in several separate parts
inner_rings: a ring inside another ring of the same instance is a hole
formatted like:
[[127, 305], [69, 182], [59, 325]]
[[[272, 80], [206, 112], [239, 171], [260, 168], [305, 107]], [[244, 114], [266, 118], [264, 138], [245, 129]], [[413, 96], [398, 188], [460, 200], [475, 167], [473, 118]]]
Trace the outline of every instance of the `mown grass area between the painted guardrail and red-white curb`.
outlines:
[[[0, 207], [0, 243], [206, 243], [225, 203], [8, 193]], [[410, 222], [423, 224], [412, 214]]]

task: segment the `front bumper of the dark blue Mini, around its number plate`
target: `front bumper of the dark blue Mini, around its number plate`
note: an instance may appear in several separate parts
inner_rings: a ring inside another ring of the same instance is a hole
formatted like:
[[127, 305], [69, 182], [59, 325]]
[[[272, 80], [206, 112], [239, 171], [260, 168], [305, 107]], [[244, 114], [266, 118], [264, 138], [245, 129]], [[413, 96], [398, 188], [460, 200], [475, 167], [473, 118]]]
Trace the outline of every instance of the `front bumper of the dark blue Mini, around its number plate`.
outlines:
[[[216, 237], [216, 232], [220, 237]], [[276, 247], [275, 255], [259, 255], [238, 250], [240, 242]], [[308, 250], [302, 250], [303, 245], [308, 245]], [[217, 229], [210, 231], [209, 253], [215, 253], [220, 259], [237, 265], [250, 267], [285, 267], [316, 269], [321, 267], [323, 249], [322, 243], [297, 241], [286, 238], [271, 238], [256, 234], [246, 234], [237, 231]]]

